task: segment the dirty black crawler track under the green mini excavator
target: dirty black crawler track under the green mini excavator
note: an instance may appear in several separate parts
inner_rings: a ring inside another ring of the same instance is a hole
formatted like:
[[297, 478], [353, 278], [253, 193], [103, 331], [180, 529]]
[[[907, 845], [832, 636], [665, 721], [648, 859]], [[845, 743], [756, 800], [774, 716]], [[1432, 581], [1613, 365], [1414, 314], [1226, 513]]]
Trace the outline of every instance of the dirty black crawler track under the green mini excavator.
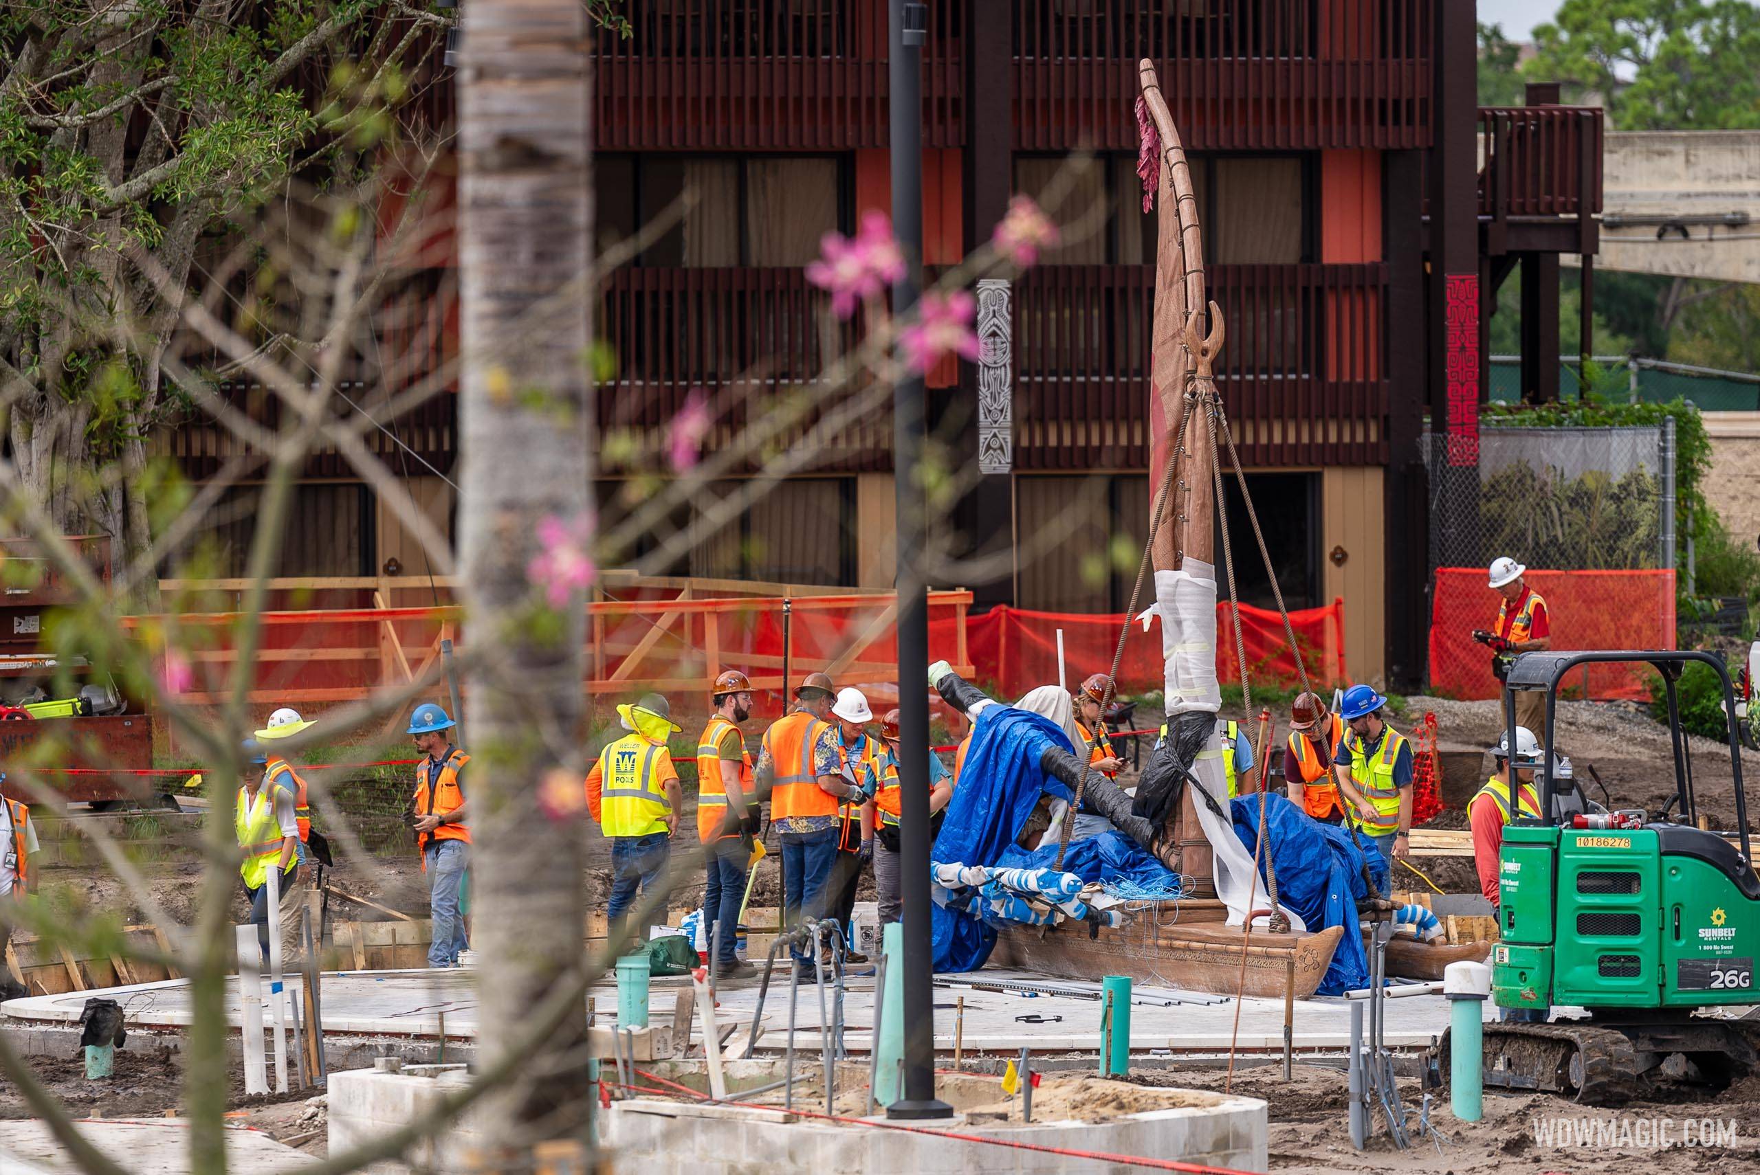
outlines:
[[[1586, 1106], [1612, 1106], [1639, 1092], [1637, 1054], [1624, 1033], [1573, 1024], [1485, 1024], [1485, 1085], [1533, 1089]], [[1448, 1033], [1434, 1055], [1448, 1073]]]

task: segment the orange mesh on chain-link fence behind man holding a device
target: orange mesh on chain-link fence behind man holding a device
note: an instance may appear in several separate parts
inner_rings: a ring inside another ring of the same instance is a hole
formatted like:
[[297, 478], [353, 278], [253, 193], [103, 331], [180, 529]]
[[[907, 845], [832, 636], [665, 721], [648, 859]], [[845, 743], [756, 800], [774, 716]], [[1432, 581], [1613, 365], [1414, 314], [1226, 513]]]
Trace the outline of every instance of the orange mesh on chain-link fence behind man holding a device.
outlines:
[[[1528, 586], [1547, 603], [1554, 651], [1672, 649], [1674, 572], [1536, 572]], [[1431, 612], [1431, 690], [1452, 698], [1494, 698], [1491, 649], [1473, 640], [1473, 630], [1491, 630], [1498, 619], [1498, 593], [1485, 586], [1482, 566], [1436, 570]], [[1559, 697], [1649, 697], [1639, 665], [1589, 665], [1561, 682]]]

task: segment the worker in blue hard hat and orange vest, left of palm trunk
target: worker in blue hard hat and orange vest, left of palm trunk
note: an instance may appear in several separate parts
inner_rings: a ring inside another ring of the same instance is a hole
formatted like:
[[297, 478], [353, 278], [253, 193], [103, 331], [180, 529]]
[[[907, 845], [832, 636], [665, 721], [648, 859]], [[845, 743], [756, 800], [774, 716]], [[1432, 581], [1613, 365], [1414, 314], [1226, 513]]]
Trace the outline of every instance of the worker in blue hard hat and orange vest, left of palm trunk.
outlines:
[[470, 950], [465, 913], [459, 908], [465, 871], [470, 865], [470, 825], [465, 823], [465, 755], [445, 733], [458, 723], [435, 705], [422, 702], [410, 714], [410, 737], [422, 762], [415, 765], [415, 800], [412, 809], [415, 844], [428, 874], [428, 906], [433, 916], [433, 941], [428, 945], [429, 967], [456, 967], [458, 955]]

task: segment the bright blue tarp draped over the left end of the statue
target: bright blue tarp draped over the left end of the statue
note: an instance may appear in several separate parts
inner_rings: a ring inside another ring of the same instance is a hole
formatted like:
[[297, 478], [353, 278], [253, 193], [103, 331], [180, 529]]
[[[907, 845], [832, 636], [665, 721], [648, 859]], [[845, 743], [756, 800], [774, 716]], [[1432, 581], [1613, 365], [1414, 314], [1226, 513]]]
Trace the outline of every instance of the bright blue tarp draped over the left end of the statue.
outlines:
[[[961, 772], [984, 786], [954, 788], [942, 836], [929, 850], [935, 864], [994, 865], [1040, 793], [1070, 799], [1070, 790], [1045, 776], [1038, 758], [1047, 746], [1075, 753], [1063, 728], [1049, 718], [1012, 705], [987, 705], [972, 730], [972, 748]], [[996, 931], [977, 911], [935, 906], [935, 969], [977, 971], [996, 945]]]

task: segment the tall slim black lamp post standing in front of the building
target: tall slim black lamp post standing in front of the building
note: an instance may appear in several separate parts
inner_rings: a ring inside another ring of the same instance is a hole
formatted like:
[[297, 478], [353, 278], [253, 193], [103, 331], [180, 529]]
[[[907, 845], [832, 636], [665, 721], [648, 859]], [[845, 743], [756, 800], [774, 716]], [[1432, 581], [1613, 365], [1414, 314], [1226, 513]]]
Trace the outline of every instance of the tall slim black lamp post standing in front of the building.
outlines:
[[[891, 0], [892, 230], [905, 250], [905, 276], [892, 285], [892, 311], [917, 308], [922, 276], [922, 42], [929, 9]], [[935, 957], [929, 945], [929, 602], [917, 566], [924, 496], [917, 461], [924, 431], [922, 376], [898, 382], [892, 399], [892, 477], [898, 482], [898, 744], [899, 872], [905, 906], [905, 1082], [891, 1119], [950, 1117], [935, 1098]]]

